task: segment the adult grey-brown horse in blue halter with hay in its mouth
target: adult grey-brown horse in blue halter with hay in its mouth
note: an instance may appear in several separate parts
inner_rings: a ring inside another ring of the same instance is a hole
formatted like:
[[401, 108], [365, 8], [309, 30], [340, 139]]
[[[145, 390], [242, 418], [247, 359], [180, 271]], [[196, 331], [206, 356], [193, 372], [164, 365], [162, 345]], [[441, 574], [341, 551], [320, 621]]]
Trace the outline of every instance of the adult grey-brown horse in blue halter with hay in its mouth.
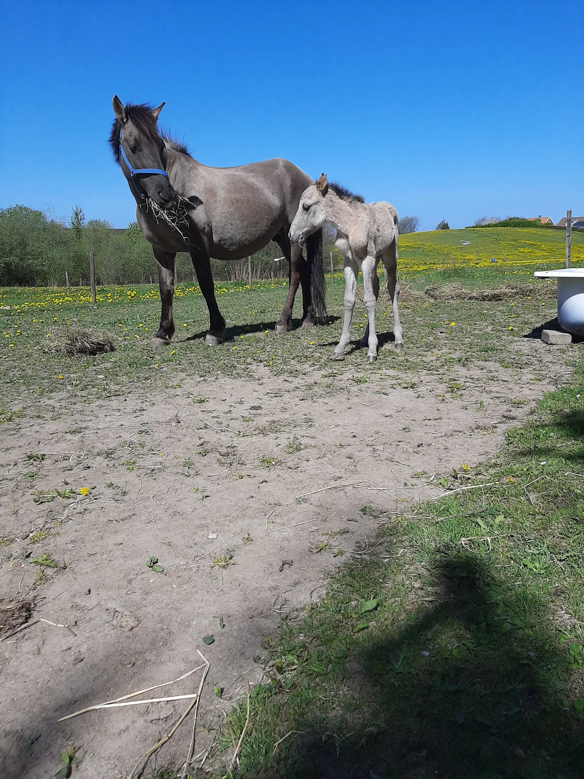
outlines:
[[290, 287], [276, 332], [290, 330], [298, 285], [302, 287], [302, 326], [326, 314], [322, 231], [306, 244], [290, 242], [288, 231], [302, 192], [311, 178], [288, 160], [273, 159], [238, 167], [207, 167], [185, 146], [159, 132], [164, 103], [122, 105], [113, 100], [110, 146], [136, 202], [136, 217], [152, 244], [160, 285], [160, 328], [153, 346], [170, 344], [174, 334], [174, 258], [188, 252], [209, 308], [205, 343], [223, 340], [225, 320], [215, 299], [210, 258], [243, 259], [276, 241], [289, 263]]

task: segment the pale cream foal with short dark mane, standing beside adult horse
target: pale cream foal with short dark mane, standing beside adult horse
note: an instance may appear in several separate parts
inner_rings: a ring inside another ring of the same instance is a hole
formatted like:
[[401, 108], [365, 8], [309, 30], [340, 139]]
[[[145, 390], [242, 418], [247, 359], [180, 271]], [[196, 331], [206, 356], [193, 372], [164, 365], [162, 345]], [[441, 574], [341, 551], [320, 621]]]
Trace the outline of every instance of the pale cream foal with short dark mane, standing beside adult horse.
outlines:
[[350, 341], [351, 321], [355, 307], [357, 277], [363, 274], [363, 302], [368, 325], [361, 346], [368, 344], [367, 359], [377, 359], [375, 305], [379, 294], [377, 265], [381, 259], [387, 270], [387, 290], [393, 307], [393, 333], [396, 349], [403, 349], [403, 332], [399, 324], [399, 284], [397, 282], [397, 213], [390, 203], [365, 203], [344, 187], [327, 183], [323, 173], [316, 184], [304, 190], [300, 205], [290, 226], [290, 241], [303, 245], [308, 236], [328, 222], [336, 229], [336, 248], [343, 255], [345, 269], [345, 321], [333, 360], [343, 359]]

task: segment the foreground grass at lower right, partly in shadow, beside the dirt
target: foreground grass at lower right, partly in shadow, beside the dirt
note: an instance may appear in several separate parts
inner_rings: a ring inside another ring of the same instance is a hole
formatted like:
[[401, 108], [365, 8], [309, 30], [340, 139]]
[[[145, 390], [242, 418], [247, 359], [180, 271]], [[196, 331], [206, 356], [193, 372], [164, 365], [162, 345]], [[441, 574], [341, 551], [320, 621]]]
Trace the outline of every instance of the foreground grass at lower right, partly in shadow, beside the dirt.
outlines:
[[382, 553], [266, 640], [237, 775], [581, 777], [583, 442], [581, 364], [494, 461], [461, 467], [476, 489], [387, 518]]

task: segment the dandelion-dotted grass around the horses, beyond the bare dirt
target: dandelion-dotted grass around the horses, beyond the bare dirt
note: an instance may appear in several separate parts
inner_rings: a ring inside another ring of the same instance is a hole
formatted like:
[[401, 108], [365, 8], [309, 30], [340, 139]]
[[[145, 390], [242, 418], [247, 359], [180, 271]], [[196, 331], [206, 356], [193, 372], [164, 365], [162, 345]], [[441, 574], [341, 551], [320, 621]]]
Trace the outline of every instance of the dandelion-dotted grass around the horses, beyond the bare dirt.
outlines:
[[[471, 245], [462, 245], [463, 239], [470, 240]], [[62, 289], [4, 288], [0, 290], [0, 326], [4, 333], [0, 338], [0, 393], [5, 404], [22, 403], [22, 398], [28, 403], [54, 392], [90, 402], [124, 393], [129, 384], [148, 393], [160, 386], [179, 386], [187, 375], [254, 378], [256, 369], [292, 376], [306, 375], [307, 371], [328, 372], [326, 391], [330, 393], [339, 390], [347, 372], [358, 385], [384, 369], [441, 371], [452, 360], [463, 361], [469, 356], [502, 364], [508, 358], [510, 339], [521, 337], [556, 315], [554, 284], [534, 280], [532, 274], [536, 266], [558, 265], [563, 256], [562, 240], [561, 233], [535, 228], [402, 236], [399, 275], [405, 282], [400, 301], [404, 354], [397, 355], [390, 347], [392, 311], [387, 293], [382, 291], [378, 363], [369, 366], [363, 350], [348, 351], [345, 361], [333, 372], [329, 356], [338, 341], [343, 316], [343, 282], [338, 274], [335, 284], [331, 284], [330, 277], [328, 280], [328, 323], [313, 329], [297, 328], [285, 336], [276, 336], [273, 330], [287, 295], [286, 282], [262, 282], [254, 284], [252, 290], [243, 284], [217, 284], [227, 333], [225, 343], [213, 349], [203, 343], [208, 315], [199, 287], [180, 285], [174, 298], [177, 332], [171, 347], [155, 352], [150, 349], [150, 338], [157, 331], [160, 317], [157, 287], [102, 287], [97, 308], [90, 305], [90, 295], [83, 289], [72, 289], [68, 295]], [[584, 236], [573, 236], [575, 266], [584, 262], [583, 251]], [[497, 260], [492, 265], [491, 256]], [[460, 284], [451, 285], [448, 294], [436, 295], [435, 285], [450, 280]], [[434, 297], [440, 299], [424, 294], [424, 289], [432, 286]], [[468, 297], [461, 292], [464, 287], [480, 287], [482, 291], [473, 294], [474, 299], [465, 300], [461, 299]], [[297, 315], [300, 310], [298, 296]], [[296, 319], [294, 325], [298, 323]], [[366, 326], [363, 305], [357, 302], [354, 344]], [[93, 331], [111, 338], [116, 350], [73, 356], [59, 350], [55, 354], [45, 351], [47, 344], [56, 336], [62, 338], [63, 333]], [[194, 403], [204, 404], [206, 400], [204, 394], [193, 397]], [[16, 412], [6, 409], [9, 407], [0, 410], [0, 423], [14, 418]]]

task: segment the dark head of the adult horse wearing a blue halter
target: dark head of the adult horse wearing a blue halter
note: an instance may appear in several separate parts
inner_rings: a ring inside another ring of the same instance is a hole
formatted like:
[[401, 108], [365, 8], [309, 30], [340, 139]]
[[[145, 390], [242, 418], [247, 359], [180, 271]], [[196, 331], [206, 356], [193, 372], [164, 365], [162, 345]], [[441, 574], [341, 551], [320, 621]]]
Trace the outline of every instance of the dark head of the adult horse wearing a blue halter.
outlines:
[[142, 199], [142, 196], [151, 198], [162, 208], [174, 206], [176, 194], [164, 173], [138, 174], [132, 178], [126, 164], [128, 160], [135, 171], [143, 168], [165, 170], [166, 144], [157, 129], [158, 115], [164, 108], [164, 103], [158, 108], [131, 103], [124, 106], [116, 95], [112, 104], [115, 119], [111, 125], [110, 146], [116, 162], [128, 179], [132, 193], [136, 191], [139, 199]]

